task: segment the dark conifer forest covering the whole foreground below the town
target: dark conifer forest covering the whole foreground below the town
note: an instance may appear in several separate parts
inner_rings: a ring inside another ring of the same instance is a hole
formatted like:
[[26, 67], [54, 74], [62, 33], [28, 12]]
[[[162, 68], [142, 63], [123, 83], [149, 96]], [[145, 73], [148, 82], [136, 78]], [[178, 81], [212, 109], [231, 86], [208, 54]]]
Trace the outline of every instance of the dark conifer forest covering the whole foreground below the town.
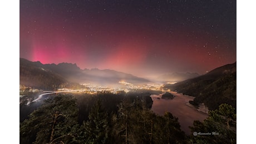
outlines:
[[[137, 90], [117, 94], [56, 94], [20, 120], [20, 143], [235, 143], [236, 115], [230, 105], [210, 111], [193, 132], [218, 135], [186, 136], [178, 118], [150, 110], [152, 92]], [[26, 103], [26, 101], [24, 101]], [[24, 106], [23, 103], [20, 107]], [[20, 116], [21, 117], [21, 116]], [[23, 116], [24, 117], [24, 116]], [[199, 133], [200, 134], [200, 133]]]

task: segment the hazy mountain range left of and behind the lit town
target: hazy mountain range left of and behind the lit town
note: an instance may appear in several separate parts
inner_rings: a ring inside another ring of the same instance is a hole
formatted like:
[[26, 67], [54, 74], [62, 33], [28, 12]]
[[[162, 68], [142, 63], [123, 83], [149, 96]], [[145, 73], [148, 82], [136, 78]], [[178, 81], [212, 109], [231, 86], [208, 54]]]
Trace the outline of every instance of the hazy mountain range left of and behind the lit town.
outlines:
[[23, 58], [19, 59], [19, 71], [21, 85], [44, 89], [72, 87], [79, 84], [117, 86], [120, 85], [119, 81], [136, 85], [152, 83], [150, 80], [115, 70], [82, 70], [76, 64], [42, 64], [40, 61], [32, 62]]

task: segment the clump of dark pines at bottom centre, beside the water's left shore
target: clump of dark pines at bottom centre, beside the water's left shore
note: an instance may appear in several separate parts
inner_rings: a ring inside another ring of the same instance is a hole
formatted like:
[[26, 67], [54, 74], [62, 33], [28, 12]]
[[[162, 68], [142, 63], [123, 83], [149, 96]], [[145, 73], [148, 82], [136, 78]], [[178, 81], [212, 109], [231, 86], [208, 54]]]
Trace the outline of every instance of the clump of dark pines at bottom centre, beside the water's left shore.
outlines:
[[113, 116], [117, 143], [181, 143], [185, 133], [178, 118], [169, 112], [157, 116], [146, 107], [144, 100], [123, 101]]

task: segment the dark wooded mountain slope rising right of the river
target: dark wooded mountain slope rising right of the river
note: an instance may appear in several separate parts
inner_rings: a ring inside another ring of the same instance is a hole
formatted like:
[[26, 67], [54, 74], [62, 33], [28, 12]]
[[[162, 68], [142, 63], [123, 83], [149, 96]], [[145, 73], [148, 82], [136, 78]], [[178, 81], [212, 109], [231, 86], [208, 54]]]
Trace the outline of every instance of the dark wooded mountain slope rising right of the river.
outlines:
[[211, 70], [205, 75], [188, 79], [164, 88], [195, 96], [195, 103], [205, 103], [209, 110], [226, 103], [237, 107], [237, 63]]

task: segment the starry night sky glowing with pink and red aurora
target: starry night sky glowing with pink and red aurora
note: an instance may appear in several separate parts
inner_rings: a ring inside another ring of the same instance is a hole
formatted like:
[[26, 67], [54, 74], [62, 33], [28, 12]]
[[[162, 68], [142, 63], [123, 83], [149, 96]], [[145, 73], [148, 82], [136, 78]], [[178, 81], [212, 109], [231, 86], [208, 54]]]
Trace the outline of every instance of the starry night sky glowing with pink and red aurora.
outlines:
[[236, 15], [230, 0], [22, 0], [19, 57], [142, 77], [205, 74], [237, 60]]

